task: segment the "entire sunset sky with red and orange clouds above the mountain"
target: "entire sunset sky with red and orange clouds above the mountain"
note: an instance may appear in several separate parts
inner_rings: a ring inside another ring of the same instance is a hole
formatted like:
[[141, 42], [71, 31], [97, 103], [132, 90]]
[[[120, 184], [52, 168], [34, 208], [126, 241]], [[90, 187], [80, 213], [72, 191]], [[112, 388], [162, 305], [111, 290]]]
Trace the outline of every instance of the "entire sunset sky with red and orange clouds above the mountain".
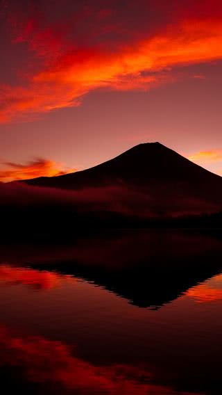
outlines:
[[0, 0], [0, 181], [160, 141], [222, 175], [221, 0]]

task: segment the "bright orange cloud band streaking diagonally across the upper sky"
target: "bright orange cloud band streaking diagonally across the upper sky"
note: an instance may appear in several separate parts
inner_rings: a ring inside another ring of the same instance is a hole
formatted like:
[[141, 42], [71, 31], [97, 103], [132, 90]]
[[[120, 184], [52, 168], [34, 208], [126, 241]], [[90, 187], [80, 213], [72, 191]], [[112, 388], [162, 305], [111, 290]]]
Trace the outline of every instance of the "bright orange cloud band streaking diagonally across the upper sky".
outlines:
[[[28, 33], [27, 33], [28, 29]], [[42, 65], [27, 77], [27, 84], [1, 86], [0, 122], [30, 119], [37, 113], [78, 106], [83, 95], [98, 88], [149, 89], [173, 79], [173, 67], [222, 58], [221, 19], [190, 19], [169, 26], [162, 33], [115, 51], [103, 47], [74, 47], [53, 30], [33, 32], [33, 24], [15, 40], [27, 42]], [[35, 29], [34, 29], [35, 30]], [[56, 34], [56, 33], [55, 33]], [[44, 43], [44, 40], [45, 43]], [[51, 52], [56, 46], [56, 51]], [[172, 69], [172, 70], [171, 70]], [[169, 71], [171, 70], [171, 71]]]

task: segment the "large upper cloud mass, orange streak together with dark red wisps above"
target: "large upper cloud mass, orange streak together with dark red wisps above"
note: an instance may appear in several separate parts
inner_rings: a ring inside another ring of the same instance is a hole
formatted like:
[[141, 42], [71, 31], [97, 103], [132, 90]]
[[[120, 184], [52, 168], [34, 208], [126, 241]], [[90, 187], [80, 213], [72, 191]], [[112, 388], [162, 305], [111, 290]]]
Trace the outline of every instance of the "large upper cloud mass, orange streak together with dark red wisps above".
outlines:
[[[177, 19], [169, 26], [151, 29], [149, 20], [141, 31], [130, 28], [129, 38], [123, 15], [118, 19], [117, 10], [101, 5], [79, 6], [69, 17], [47, 19], [44, 26], [40, 20], [45, 15], [10, 17], [13, 45], [26, 45], [35, 61], [33, 72], [24, 73], [26, 83], [0, 87], [0, 122], [78, 106], [83, 95], [98, 88], [149, 89], [172, 81], [173, 70], [166, 72], [169, 67], [221, 59], [220, 3], [215, 2], [214, 13], [210, 6], [195, 8], [194, 13], [181, 9], [183, 19], [177, 10]], [[81, 17], [87, 30], [78, 22]]]

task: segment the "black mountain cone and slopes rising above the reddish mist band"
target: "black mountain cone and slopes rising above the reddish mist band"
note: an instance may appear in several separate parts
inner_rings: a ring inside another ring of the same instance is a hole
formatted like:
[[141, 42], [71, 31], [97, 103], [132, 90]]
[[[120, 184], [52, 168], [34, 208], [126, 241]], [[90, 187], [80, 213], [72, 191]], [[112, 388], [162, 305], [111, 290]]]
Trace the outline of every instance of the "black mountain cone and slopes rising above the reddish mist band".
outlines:
[[98, 166], [57, 177], [28, 179], [29, 185], [78, 189], [126, 183], [148, 186], [148, 183], [189, 182], [218, 184], [222, 178], [201, 168], [160, 143], [136, 145], [119, 156]]

